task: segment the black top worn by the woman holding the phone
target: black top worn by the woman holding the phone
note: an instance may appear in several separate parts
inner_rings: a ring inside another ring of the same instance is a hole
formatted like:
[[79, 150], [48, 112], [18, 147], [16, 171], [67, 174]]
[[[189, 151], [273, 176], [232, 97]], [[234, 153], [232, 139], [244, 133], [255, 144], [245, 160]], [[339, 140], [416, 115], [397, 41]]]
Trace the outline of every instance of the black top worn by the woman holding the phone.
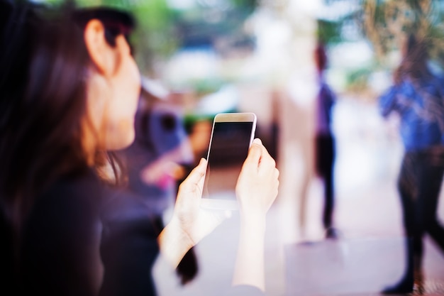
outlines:
[[[151, 269], [160, 229], [150, 212], [140, 197], [107, 189], [93, 172], [60, 179], [35, 199], [15, 277], [6, 262], [12, 262], [13, 251], [0, 212], [0, 271], [9, 275], [0, 280], [0, 294], [156, 295]], [[262, 295], [248, 286], [221, 294]]]

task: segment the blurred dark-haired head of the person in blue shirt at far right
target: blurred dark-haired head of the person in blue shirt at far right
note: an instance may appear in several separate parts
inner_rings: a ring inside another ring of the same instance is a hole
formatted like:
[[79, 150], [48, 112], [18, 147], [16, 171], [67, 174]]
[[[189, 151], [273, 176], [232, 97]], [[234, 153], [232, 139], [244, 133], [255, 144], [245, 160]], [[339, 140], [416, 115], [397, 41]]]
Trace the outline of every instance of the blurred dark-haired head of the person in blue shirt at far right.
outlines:
[[428, 80], [432, 76], [427, 66], [428, 46], [426, 40], [420, 40], [411, 34], [406, 40], [401, 64], [394, 72], [396, 84], [409, 77], [411, 80]]

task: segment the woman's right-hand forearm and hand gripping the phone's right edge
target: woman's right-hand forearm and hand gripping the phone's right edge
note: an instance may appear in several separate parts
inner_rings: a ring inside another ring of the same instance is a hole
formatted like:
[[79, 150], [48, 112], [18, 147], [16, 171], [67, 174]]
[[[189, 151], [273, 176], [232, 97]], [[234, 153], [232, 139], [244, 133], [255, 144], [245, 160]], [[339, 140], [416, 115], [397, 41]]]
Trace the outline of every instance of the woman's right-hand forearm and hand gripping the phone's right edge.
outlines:
[[233, 285], [265, 290], [265, 219], [279, 186], [276, 163], [255, 139], [240, 172], [236, 194], [240, 203], [240, 239]]

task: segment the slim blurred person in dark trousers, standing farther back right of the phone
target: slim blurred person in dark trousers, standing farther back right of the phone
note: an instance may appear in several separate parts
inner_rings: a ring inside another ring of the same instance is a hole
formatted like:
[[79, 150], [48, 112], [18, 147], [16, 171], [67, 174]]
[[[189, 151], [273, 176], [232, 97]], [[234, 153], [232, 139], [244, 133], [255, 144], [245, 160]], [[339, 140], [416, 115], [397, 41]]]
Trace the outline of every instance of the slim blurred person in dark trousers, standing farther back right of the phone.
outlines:
[[331, 113], [336, 96], [324, 77], [328, 57], [324, 45], [319, 42], [314, 53], [316, 70], [318, 70], [318, 96], [316, 100], [316, 130], [315, 130], [315, 168], [316, 174], [323, 181], [323, 214], [322, 223], [326, 238], [337, 236], [333, 228], [334, 198], [334, 162], [335, 137], [331, 127]]

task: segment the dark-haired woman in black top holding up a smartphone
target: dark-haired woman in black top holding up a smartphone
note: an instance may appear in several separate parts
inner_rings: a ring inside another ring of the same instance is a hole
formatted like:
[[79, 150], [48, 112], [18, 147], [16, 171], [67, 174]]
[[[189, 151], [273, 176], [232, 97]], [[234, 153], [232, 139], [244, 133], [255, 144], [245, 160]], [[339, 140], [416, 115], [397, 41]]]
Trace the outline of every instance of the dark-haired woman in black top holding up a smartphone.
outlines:
[[[113, 187], [112, 153], [135, 137], [140, 75], [113, 9], [0, 1], [0, 269], [2, 295], [155, 295], [160, 249], [175, 268], [224, 216], [199, 207], [206, 160], [179, 187], [169, 223]], [[279, 171], [259, 139], [240, 172], [233, 290], [265, 290], [265, 217]]]

